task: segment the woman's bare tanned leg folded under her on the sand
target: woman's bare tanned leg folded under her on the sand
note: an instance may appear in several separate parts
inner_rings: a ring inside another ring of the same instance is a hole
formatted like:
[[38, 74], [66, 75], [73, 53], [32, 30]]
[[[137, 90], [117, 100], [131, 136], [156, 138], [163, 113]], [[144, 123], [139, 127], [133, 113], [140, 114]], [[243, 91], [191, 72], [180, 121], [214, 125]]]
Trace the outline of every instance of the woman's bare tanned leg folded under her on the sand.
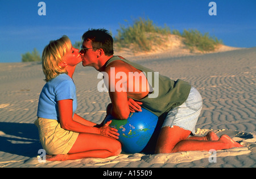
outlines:
[[117, 156], [120, 153], [121, 143], [118, 140], [98, 134], [80, 133], [68, 154], [48, 155], [46, 160], [64, 161], [86, 157], [106, 158]]

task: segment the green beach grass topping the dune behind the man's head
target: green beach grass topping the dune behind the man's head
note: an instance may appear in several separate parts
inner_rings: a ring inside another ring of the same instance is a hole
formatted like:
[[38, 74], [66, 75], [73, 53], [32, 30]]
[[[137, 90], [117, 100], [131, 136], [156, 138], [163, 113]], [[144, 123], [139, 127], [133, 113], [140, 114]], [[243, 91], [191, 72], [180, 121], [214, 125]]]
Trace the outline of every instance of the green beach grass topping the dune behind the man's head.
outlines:
[[135, 19], [134, 23], [127, 24], [127, 27], [120, 24], [117, 31], [118, 35], [114, 38], [117, 49], [130, 48], [133, 51], [150, 51], [153, 45], [162, 45], [163, 39], [167, 39], [170, 34], [182, 37], [183, 43], [191, 52], [211, 52], [219, 44], [223, 44], [222, 40], [210, 36], [208, 32], [203, 34], [197, 29], [184, 29], [183, 33], [180, 33], [176, 29], [171, 31], [167, 25], [158, 27], [152, 20], [144, 18]]

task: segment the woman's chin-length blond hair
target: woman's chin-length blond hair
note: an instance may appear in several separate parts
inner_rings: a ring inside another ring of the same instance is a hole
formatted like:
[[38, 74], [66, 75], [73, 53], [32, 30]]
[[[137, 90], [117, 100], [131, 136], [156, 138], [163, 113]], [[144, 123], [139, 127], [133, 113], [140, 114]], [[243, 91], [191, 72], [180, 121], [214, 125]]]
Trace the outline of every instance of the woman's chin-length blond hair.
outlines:
[[52, 40], [44, 48], [42, 54], [43, 73], [46, 76], [46, 82], [55, 78], [59, 74], [68, 74], [67, 70], [59, 66], [65, 55], [72, 49], [71, 40], [68, 36], [63, 36], [58, 40]]

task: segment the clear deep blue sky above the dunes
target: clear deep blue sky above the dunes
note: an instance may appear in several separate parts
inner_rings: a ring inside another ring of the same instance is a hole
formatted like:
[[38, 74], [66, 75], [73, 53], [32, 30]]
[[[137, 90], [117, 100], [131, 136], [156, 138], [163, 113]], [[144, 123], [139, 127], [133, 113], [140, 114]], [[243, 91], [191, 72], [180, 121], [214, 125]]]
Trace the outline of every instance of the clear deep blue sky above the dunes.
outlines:
[[[212, 1], [216, 16], [208, 14]], [[63, 35], [75, 43], [89, 28], [106, 28], [115, 36], [119, 24], [139, 17], [179, 31], [209, 32], [229, 46], [256, 46], [255, 0], [44, 0], [46, 16], [38, 15], [39, 2], [0, 0], [0, 62], [21, 62], [21, 54], [34, 48], [42, 53]]]

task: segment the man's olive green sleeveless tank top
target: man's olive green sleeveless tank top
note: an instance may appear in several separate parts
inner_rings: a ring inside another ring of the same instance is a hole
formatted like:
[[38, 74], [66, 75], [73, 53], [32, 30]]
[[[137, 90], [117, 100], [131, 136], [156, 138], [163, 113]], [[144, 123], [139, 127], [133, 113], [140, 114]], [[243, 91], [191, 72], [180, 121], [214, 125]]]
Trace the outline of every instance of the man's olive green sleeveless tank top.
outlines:
[[187, 100], [191, 90], [191, 85], [188, 82], [184, 82], [181, 79], [176, 81], [171, 80], [167, 76], [160, 75], [151, 69], [118, 56], [110, 58], [105, 66], [108, 66], [111, 62], [116, 60], [128, 63], [146, 75], [148, 83], [154, 91], [150, 90], [150, 93], [143, 99], [134, 100], [141, 101], [143, 103], [142, 107], [150, 110], [150, 112], [156, 114], [156, 116], [159, 117], [163, 113], [169, 112], [171, 109], [183, 104], [185, 100]]

